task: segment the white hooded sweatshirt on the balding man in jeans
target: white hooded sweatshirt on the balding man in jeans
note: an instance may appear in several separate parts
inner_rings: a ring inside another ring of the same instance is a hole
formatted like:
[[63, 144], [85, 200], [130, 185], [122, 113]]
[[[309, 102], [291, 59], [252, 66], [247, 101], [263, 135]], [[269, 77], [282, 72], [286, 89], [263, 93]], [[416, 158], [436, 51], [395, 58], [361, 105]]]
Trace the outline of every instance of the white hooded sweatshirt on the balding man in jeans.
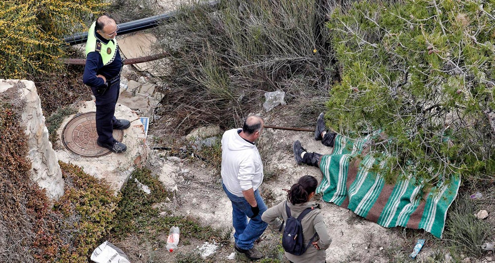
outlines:
[[222, 136], [222, 180], [232, 194], [243, 197], [243, 191], [258, 189], [263, 181], [263, 163], [258, 148], [232, 129]]

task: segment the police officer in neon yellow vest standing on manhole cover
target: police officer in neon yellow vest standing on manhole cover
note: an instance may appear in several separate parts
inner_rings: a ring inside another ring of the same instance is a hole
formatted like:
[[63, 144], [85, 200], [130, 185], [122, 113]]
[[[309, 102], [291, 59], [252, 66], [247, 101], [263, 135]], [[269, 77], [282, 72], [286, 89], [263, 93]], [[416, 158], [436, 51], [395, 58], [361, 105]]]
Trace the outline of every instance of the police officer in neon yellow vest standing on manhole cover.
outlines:
[[91, 25], [83, 75], [83, 83], [91, 87], [96, 97], [97, 143], [115, 153], [124, 152], [127, 146], [113, 138], [113, 130], [124, 130], [131, 126], [128, 120], [116, 119], [114, 116], [123, 65], [115, 39], [118, 29], [109, 15], [100, 16]]

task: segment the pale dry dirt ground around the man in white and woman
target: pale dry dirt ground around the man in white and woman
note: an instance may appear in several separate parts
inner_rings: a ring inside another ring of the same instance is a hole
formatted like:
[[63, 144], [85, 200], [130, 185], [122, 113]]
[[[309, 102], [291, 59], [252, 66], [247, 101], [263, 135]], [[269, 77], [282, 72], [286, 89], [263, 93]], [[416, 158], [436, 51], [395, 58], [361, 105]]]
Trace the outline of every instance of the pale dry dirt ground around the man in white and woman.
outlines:
[[[291, 116], [284, 116], [284, 106], [279, 106], [266, 113], [260, 109], [259, 114], [265, 119], [265, 125], [291, 126]], [[315, 124], [317, 116], [308, 123]], [[307, 127], [309, 129], [314, 128]], [[167, 134], [151, 128], [148, 138], [166, 137]], [[262, 157], [265, 158], [265, 174], [271, 171], [261, 186], [262, 196], [268, 207], [271, 207], [286, 198], [284, 188], [290, 188], [302, 175], [313, 175], [321, 180], [321, 172], [316, 167], [297, 165], [292, 150], [295, 140], [300, 140], [308, 151], [330, 153], [332, 148], [326, 147], [320, 141], [314, 140], [314, 132], [299, 132], [288, 130], [264, 129], [258, 141]], [[153, 142], [149, 142], [153, 147]], [[190, 159], [170, 158], [163, 151], [153, 151], [148, 158], [152, 171], [158, 175], [164, 184], [171, 190], [177, 190], [176, 199], [165, 204], [167, 210], [175, 216], [192, 216], [199, 218], [204, 224], [222, 231], [232, 231], [230, 245], [216, 245], [206, 259], [212, 262], [239, 262], [243, 256], [231, 255], [233, 249], [232, 206], [222, 190], [219, 171], [212, 169], [202, 161]], [[356, 216], [351, 211], [337, 205], [324, 202], [321, 197], [315, 197], [321, 204], [322, 214], [327, 229], [332, 237], [332, 244], [327, 250], [327, 262], [389, 262], [391, 258], [402, 258], [407, 261], [417, 235], [425, 235], [424, 231], [404, 230], [401, 228], [389, 229], [376, 223]], [[165, 209], [164, 209], [165, 210]], [[412, 232], [410, 232], [412, 231]], [[166, 238], [164, 233], [164, 238]], [[413, 236], [411, 239], [410, 237]], [[422, 237], [419, 237], [422, 238]], [[261, 241], [255, 246], [261, 251], [267, 251], [280, 242], [280, 234], [269, 228], [261, 236]], [[129, 242], [129, 243], [128, 243]], [[131, 248], [130, 244], [136, 240], [130, 238], [119, 244]], [[128, 244], [125, 244], [128, 243]], [[204, 244], [202, 241], [181, 241], [176, 252], [156, 251], [157, 258], [174, 261], [179, 253], [199, 251]], [[210, 248], [211, 250], [211, 248]], [[428, 249], [425, 248], [425, 251]], [[404, 252], [401, 252], [404, 251]], [[130, 252], [130, 251], [128, 251]], [[199, 251], [200, 252], [200, 251]], [[131, 252], [132, 253], [132, 252]], [[137, 252], [136, 252], [137, 253]], [[160, 255], [158, 255], [158, 254]], [[404, 255], [395, 255], [396, 253]], [[230, 259], [229, 259], [230, 256]], [[268, 257], [270, 257], [268, 255]], [[284, 260], [284, 259], [282, 259]], [[160, 260], [161, 262], [161, 260]]]

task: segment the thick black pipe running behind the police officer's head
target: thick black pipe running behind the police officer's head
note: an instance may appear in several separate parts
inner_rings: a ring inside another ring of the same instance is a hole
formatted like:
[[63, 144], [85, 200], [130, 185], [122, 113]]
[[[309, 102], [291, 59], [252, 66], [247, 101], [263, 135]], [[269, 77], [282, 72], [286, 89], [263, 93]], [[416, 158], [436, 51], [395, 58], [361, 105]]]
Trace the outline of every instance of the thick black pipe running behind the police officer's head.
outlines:
[[[210, 5], [213, 8], [217, 8], [218, 3], [219, 1], [211, 1], [208, 3], [208, 5]], [[174, 19], [178, 13], [179, 13], [178, 11], [174, 10], [161, 15], [155, 15], [139, 20], [118, 24], [119, 30], [117, 31], [117, 33], [119, 35], [124, 35], [136, 31], [153, 28], [158, 26], [162, 22], [167, 22], [171, 19]], [[88, 32], [79, 32], [72, 36], [64, 37], [65, 43], [69, 45], [82, 44], [85, 43], [87, 39], [88, 39]]]

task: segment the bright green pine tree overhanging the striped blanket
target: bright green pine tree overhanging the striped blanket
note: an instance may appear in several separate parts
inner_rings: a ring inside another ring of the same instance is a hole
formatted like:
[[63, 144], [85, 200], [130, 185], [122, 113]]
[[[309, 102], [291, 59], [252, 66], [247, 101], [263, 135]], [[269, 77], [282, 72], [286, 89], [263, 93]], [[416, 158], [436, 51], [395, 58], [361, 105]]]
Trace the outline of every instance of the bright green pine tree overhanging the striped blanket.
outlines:
[[336, 9], [327, 25], [342, 82], [330, 91], [331, 128], [350, 137], [381, 131], [371, 151], [389, 181], [493, 179], [494, 8], [405, 0]]

